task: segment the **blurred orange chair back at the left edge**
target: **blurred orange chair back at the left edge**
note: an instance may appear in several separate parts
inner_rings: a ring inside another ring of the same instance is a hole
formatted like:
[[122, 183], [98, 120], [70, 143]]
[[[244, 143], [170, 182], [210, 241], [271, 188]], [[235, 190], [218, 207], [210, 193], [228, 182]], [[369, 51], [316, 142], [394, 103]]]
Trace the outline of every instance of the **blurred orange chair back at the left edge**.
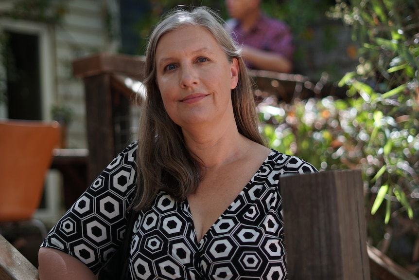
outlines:
[[0, 223], [34, 220], [60, 136], [58, 122], [0, 120]]

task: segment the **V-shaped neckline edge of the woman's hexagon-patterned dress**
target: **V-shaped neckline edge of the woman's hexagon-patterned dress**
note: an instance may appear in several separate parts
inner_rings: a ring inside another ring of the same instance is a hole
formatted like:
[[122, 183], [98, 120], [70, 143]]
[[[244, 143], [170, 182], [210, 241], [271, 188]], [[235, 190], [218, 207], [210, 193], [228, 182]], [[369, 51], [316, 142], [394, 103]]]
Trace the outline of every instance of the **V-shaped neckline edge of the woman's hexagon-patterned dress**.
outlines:
[[271, 152], [268, 154], [266, 159], [262, 162], [261, 166], [255, 172], [255, 174], [252, 176], [252, 178], [245, 184], [245, 186], [239, 192], [239, 194], [235, 197], [235, 199], [230, 203], [230, 205], [228, 205], [228, 207], [223, 211], [223, 213], [221, 213], [221, 215], [217, 218], [217, 220], [215, 220], [215, 222], [208, 228], [208, 230], [204, 233], [204, 235], [202, 235], [202, 238], [201, 238], [200, 241], [198, 241], [198, 237], [196, 235], [196, 228], [195, 228], [195, 224], [193, 222], [192, 211], [191, 211], [188, 199], [185, 199], [184, 203], [185, 203], [185, 206], [186, 206], [186, 211], [187, 211], [188, 217], [191, 219], [191, 226], [192, 226], [192, 233], [193, 233], [193, 237], [194, 237], [194, 242], [195, 242], [196, 245], [198, 245], [198, 247], [201, 247], [204, 244], [204, 242], [205, 242], [204, 240], [206, 239], [207, 235], [212, 231], [214, 226], [221, 219], [223, 219], [226, 212], [229, 211], [231, 209], [231, 207], [233, 207], [237, 203], [237, 201], [240, 199], [240, 197], [243, 196], [244, 191], [251, 185], [251, 183], [254, 181], [254, 179], [259, 175], [259, 173], [262, 171], [263, 167], [265, 167], [266, 164], [269, 162], [269, 158], [271, 157], [271, 155], [273, 155], [274, 153], [275, 153], [275, 150], [271, 149]]

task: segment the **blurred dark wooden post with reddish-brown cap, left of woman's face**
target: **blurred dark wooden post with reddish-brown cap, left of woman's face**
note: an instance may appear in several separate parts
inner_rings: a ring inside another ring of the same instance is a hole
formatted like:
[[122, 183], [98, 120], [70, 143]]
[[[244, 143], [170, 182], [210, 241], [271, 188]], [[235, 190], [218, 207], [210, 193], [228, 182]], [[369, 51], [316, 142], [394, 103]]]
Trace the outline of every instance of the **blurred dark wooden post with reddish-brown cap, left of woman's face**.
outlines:
[[[126, 126], [130, 99], [134, 95], [115, 90], [115, 75], [143, 80], [144, 59], [139, 56], [95, 54], [73, 61], [73, 75], [85, 85], [87, 144], [87, 182], [91, 184], [122, 148], [129, 144], [121, 137]], [[121, 88], [121, 85], [119, 85]], [[129, 118], [128, 118], [129, 119]], [[123, 147], [122, 147], [123, 146]]]

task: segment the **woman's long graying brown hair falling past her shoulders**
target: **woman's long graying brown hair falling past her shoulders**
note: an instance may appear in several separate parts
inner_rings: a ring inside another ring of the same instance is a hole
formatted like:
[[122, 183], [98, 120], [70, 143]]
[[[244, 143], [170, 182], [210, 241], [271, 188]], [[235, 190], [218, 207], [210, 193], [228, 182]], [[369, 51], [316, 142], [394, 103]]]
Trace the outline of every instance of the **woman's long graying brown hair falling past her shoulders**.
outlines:
[[245, 137], [264, 144], [258, 130], [251, 78], [240, 49], [224, 24], [210, 8], [197, 7], [191, 11], [176, 8], [160, 20], [150, 35], [144, 68], [146, 96], [142, 103], [137, 154], [139, 187], [132, 204], [135, 210], [150, 206], [160, 190], [168, 192], [176, 201], [186, 199], [196, 190], [202, 176], [202, 164], [185, 146], [181, 129], [165, 111], [157, 87], [156, 49], [164, 34], [187, 25], [201, 26], [215, 38], [228, 61], [237, 58], [239, 79], [236, 88], [231, 90], [237, 128]]

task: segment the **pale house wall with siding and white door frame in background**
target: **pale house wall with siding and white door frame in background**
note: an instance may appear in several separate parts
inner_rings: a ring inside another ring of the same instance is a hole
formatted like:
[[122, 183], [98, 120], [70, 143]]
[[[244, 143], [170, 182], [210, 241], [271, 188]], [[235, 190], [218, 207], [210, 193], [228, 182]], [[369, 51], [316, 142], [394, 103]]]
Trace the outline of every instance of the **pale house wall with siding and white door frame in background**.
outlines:
[[[17, 2], [0, 0], [0, 12], [12, 10]], [[97, 52], [115, 53], [118, 50], [119, 4], [118, 0], [66, 0], [60, 3], [64, 3], [66, 10], [59, 24], [52, 26], [3, 17], [0, 18], [0, 33], [2, 28], [7, 28], [40, 36], [43, 44], [40, 56], [42, 118], [52, 119], [53, 105], [69, 107], [73, 115], [67, 129], [66, 148], [87, 148], [84, 86], [82, 80], [73, 77], [71, 63]], [[109, 15], [112, 26], [106, 26]], [[2, 73], [4, 69], [0, 67]], [[0, 104], [0, 117], [3, 118], [7, 111], [4, 106]]]

